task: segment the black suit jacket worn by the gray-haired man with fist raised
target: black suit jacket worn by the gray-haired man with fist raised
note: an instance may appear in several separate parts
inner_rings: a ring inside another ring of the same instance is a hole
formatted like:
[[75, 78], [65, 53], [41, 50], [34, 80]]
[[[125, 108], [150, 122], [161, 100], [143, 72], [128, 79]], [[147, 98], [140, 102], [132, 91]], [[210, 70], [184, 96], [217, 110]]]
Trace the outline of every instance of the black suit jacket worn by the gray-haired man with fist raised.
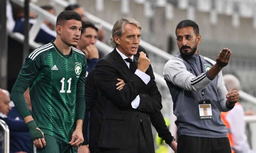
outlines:
[[[134, 57], [134, 61], [137, 64], [138, 58]], [[131, 73], [116, 49], [96, 64], [94, 78], [98, 89], [97, 103], [102, 106], [104, 116], [99, 147], [128, 149], [138, 136], [141, 120], [150, 152], [154, 152], [150, 120], [161, 133], [160, 137], [171, 142], [172, 136], [160, 112], [161, 95], [151, 66], [146, 74], [150, 76], [147, 85], [140, 77]], [[116, 90], [117, 78], [126, 83], [120, 91]], [[137, 95], [140, 96], [140, 105], [133, 109], [131, 103]]]

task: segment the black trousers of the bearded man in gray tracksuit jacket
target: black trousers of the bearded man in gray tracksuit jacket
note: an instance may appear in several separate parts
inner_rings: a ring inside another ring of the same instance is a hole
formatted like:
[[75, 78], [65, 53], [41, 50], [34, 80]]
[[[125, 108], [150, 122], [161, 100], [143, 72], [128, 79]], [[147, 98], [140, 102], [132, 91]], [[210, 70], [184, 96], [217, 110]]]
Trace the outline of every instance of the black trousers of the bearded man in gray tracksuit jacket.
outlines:
[[178, 153], [231, 153], [228, 137], [206, 138], [180, 135]]

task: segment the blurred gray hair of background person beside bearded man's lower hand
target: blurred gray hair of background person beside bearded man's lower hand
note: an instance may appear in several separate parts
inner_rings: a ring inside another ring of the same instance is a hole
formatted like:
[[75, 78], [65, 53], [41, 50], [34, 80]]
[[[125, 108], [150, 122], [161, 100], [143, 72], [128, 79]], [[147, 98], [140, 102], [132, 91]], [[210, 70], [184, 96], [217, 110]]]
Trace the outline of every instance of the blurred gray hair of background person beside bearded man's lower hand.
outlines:
[[240, 90], [240, 81], [234, 75], [226, 74], [223, 76], [223, 80], [225, 82], [225, 86], [226, 86], [228, 92], [233, 91], [233, 90], [237, 90], [237, 91]]

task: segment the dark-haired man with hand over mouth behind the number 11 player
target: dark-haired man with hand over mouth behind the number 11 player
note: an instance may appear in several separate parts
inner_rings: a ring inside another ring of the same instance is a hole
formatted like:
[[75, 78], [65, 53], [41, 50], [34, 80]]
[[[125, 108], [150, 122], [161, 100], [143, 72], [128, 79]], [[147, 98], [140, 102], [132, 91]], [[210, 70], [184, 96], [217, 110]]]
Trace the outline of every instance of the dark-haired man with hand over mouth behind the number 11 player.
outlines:
[[81, 36], [76, 48], [84, 52], [87, 61], [87, 72], [89, 73], [99, 61], [99, 51], [95, 46], [98, 39], [98, 28], [91, 22], [82, 21]]

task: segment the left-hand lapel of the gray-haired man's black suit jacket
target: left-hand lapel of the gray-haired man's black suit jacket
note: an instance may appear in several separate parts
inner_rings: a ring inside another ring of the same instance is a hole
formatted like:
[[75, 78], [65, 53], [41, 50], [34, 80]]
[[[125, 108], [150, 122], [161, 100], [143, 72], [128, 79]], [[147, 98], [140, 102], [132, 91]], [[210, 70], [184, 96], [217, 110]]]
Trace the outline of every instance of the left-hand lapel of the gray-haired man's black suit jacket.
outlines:
[[116, 62], [116, 64], [120, 66], [120, 69], [122, 69], [128, 77], [132, 77], [132, 75], [133, 75], [132, 72], [130, 71], [130, 69], [128, 68], [126, 63], [124, 62], [121, 55], [116, 51], [116, 48], [112, 51], [112, 57], [113, 57], [114, 61]]

